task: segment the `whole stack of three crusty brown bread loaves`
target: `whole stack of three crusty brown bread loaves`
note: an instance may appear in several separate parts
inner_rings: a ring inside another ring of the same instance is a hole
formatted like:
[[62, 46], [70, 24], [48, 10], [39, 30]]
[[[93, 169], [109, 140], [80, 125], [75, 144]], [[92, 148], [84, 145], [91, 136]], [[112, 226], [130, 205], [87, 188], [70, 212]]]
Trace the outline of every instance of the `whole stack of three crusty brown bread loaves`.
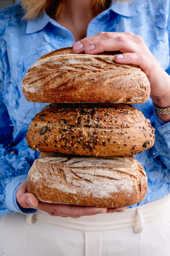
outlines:
[[146, 102], [150, 84], [139, 66], [118, 64], [114, 54], [63, 48], [26, 73], [27, 100], [51, 103], [26, 136], [41, 152], [27, 178], [38, 200], [123, 207], [145, 197], [147, 176], [133, 155], [153, 146], [154, 128], [131, 104]]

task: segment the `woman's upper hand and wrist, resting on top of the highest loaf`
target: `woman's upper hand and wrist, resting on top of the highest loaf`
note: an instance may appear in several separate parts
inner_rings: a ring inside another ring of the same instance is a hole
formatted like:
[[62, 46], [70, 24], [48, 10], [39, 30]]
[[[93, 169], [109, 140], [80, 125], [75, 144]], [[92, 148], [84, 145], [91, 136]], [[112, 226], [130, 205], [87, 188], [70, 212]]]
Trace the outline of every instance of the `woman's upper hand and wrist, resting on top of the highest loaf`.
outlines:
[[[116, 62], [139, 65], [146, 73], [153, 103], [162, 108], [170, 107], [170, 76], [154, 58], [142, 37], [131, 32], [101, 32], [73, 44], [75, 53], [97, 54], [117, 50], [122, 54], [115, 55]], [[170, 114], [160, 115], [170, 119]]]

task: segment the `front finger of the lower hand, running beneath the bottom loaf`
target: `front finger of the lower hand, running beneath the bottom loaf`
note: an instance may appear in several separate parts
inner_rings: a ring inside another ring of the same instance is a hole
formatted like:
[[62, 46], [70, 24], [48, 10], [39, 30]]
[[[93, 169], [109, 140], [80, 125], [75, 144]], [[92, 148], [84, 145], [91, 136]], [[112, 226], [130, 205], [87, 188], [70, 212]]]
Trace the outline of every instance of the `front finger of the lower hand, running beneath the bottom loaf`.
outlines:
[[90, 216], [98, 213], [106, 213], [107, 208], [91, 207], [91, 206], [76, 206], [62, 205], [39, 202], [37, 208], [43, 210], [52, 216], [79, 218], [81, 216]]

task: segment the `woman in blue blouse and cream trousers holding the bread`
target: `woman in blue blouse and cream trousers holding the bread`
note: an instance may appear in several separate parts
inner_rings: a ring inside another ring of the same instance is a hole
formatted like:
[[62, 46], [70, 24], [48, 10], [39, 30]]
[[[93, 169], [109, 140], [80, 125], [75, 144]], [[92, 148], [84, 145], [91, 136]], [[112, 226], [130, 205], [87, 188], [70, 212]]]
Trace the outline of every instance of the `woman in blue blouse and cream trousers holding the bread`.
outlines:
[[[21, 5], [0, 14], [1, 253], [8, 255], [8, 238], [14, 241], [13, 255], [169, 255], [169, 0], [23, 0]], [[115, 57], [118, 63], [138, 64], [149, 78], [151, 98], [135, 105], [156, 129], [153, 148], [135, 156], [145, 167], [149, 189], [141, 203], [126, 211], [42, 203], [26, 191], [27, 172], [38, 153], [28, 149], [25, 135], [31, 119], [45, 104], [27, 102], [21, 83], [40, 56], [67, 46], [73, 46], [75, 53], [88, 54], [120, 50], [122, 54]], [[110, 214], [96, 215], [106, 212]], [[14, 239], [16, 225], [20, 241]], [[156, 246], [155, 234], [159, 237]]]

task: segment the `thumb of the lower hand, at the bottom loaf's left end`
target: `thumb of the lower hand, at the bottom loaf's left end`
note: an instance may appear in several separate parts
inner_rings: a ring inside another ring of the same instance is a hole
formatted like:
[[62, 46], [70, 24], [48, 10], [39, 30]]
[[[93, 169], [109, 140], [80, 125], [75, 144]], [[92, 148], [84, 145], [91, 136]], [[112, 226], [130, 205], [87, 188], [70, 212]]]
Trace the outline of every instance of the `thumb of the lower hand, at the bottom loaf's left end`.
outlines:
[[35, 208], [38, 205], [37, 198], [27, 192], [27, 181], [21, 183], [17, 193], [16, 193], [17, 202], [23, 208]]

